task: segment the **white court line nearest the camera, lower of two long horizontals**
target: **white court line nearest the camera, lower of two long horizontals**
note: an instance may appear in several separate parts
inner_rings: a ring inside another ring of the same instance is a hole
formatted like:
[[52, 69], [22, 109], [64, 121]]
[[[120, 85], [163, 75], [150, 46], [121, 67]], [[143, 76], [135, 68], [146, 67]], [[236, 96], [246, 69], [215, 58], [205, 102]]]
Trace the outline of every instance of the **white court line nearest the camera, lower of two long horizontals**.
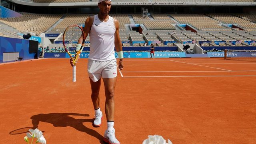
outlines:
[[164, 78], [164, 77], [176, 78], [176, 77], [249, 77], [249, 76], [124, 76], [124, 78]]

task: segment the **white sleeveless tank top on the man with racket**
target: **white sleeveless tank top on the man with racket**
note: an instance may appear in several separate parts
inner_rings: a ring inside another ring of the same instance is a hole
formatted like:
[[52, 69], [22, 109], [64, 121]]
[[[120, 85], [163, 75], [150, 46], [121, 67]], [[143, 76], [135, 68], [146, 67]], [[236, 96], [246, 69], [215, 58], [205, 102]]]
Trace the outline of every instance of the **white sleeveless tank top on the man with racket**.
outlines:
[[115, 32], [114, 19], [109, 16], [107, 22], [99, 20], [98, 15], [94, 16], [90, 30], [90, 55], [91, 60], [112, 60], [115, 59]]

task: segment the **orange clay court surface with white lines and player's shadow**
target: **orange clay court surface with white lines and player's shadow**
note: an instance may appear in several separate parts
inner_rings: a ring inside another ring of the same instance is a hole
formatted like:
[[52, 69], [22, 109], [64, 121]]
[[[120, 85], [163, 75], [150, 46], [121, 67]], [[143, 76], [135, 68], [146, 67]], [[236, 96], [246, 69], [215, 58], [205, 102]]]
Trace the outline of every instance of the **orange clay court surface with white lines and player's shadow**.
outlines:
[[[87, 59], [72, 82], [68, 59], [0, 65], [0, 144], [26, 144], [38, 127], [47, 144], [104, 144], [106, 116], [94, 128]], [[256, 61], [224, 58], [124, 59], [115, 93], [116, 137], [142, 144], [256, 143]], [[104, 86], [100, 90], [104, 113]]]

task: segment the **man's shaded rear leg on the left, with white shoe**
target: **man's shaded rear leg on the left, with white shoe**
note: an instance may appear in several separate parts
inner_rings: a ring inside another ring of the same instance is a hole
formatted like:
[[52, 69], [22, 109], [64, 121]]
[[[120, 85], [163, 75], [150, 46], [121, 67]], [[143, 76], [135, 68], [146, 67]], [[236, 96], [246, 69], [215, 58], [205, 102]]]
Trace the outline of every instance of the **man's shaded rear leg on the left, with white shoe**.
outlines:
[[93, 122], [94, 127], [99, 127], [101, 125], [101, 120], [102, 120], [102, 112], [100, 111], [100, 83], [101, 79], [99, 79], [97, 82], [93, 82], [91, 78], [90, 79], [90, 84], [91, 84], [91, 89], [92, 89], [92, 103], [95, 111], [95, 119]]

